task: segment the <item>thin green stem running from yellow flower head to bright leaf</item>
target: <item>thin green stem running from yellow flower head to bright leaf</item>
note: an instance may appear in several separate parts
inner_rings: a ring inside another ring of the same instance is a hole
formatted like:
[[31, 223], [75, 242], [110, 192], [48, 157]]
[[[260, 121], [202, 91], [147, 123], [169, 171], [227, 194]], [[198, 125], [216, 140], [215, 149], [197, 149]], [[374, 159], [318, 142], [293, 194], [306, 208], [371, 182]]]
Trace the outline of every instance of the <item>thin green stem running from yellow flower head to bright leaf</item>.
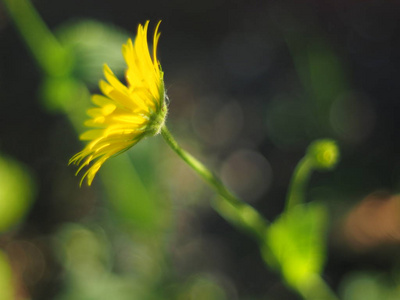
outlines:
[[251, 233], [261, 243], [265, 239], [268, 228], [267, 220], [253, 207], [235, 197], [216, 175], [191, 154], [183, 150], [165, 125], [161, 129], [161, 134], [172, 150], [221, 196], [213, 201], [214, 209], [228, 222]]

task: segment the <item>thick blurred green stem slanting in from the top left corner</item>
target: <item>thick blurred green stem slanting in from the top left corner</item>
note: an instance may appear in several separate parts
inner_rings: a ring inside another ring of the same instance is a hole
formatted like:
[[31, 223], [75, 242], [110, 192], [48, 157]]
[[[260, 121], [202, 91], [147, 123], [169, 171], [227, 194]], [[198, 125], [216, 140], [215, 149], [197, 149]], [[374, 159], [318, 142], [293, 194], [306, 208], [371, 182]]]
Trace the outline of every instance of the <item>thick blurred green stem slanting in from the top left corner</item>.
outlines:
[[40, 67], [48, 75], [64, 75], [70, 65], [67, 52], [32, 3], [29, 0], [3, 0], [3, 3]]

